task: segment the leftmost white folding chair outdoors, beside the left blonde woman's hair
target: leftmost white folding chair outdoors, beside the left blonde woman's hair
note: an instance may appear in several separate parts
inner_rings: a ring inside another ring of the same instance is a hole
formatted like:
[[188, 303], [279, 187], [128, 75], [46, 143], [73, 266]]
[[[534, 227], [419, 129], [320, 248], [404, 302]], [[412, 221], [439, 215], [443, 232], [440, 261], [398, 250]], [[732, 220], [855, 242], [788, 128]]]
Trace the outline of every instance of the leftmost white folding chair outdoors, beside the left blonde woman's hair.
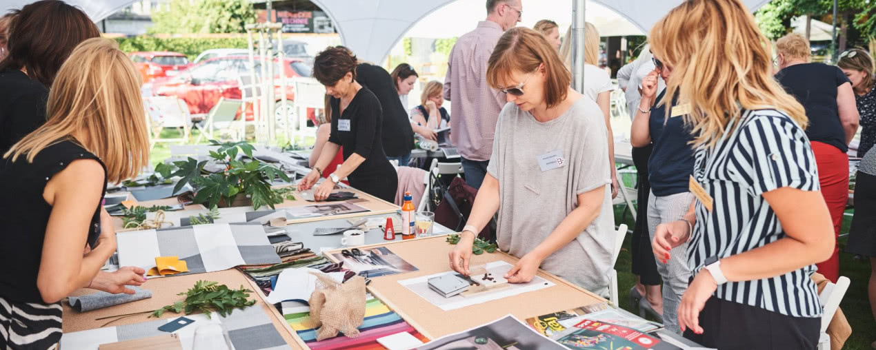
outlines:
[[[159, 142], [181, 144], [188, 142], [189, 123], [192, 117], [188, 114], [188, 106], [175, 96], [152, 96], [144, 100], [147, 118], [150, 119], [150, 149]], [[176, 129], [182, 132], [182, 137], [161, 137], [161, 131]]]

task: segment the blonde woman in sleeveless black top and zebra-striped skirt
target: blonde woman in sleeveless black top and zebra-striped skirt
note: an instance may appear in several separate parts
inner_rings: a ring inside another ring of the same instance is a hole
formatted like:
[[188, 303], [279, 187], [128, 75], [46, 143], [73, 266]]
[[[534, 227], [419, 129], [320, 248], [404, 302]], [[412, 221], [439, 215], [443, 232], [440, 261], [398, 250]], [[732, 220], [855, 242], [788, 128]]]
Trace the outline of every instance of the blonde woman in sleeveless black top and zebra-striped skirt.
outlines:
[[[76, 46], [60, 67], [48, 120], [0, 160], [6, 222], [0, 263], [0, 347], [51, 348], [60, 339], [60, 300], [91, 287], [116, 250], [101, 200], [108, 182], [149, 164], [140, 75], [106, 38]], [[83, 248], [85, 253], [83, 254]]]

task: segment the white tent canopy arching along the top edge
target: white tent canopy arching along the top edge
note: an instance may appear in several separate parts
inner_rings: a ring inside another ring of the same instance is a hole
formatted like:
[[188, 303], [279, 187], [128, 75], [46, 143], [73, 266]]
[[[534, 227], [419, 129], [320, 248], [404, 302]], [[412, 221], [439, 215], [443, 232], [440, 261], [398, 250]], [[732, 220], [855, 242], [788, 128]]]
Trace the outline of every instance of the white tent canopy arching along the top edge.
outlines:
[[[341, 34], [344, 45], [350, 47], [361, 59], [379, 62], [386, 57], [393, 45], [411, 29], [411, 27], [436, 11], [445, 4], [455, 0], [313, 0], [334, 21], [336, 29]], [[483, 3], [483, 0], [461, 0]], [[526, 8], [540, 6], [539, 1], [522, 0], [526, 16]], [[113, 12], [124, 9], [135, 0], [67, 0], [67, 3], [78, 5], [88, 13], [95, 22], [107, 18]], [[660, 18], [682, 0], [593, 0], [626, 18], [630, 24], [647, 32]], [[768, 0], [743, 0], [754, 11]], [[3, 0], [0, 9], [20, 9], [32, 0]], [[568, 11], [567, 8], [556, 11]], [[485, 17], [485, 10], [484, 17]], [[454, 18], [448, 18], [448, 25], [463, 25], [456, 23]], [[607, 31], [607, 29], [606, 29]]]

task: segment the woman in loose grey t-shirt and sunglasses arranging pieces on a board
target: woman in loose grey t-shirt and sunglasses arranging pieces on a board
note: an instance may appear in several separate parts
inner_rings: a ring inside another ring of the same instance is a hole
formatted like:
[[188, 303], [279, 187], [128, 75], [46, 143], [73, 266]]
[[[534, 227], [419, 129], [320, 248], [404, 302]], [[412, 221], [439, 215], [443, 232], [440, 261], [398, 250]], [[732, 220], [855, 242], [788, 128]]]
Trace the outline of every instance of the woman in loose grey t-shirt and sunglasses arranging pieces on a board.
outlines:
[[450, 267], [468, 275], [471, 246], [498, 212], [498, 246], [519, 257], [505, 278], [539, 268], [607, 296], [614, 216], [602, 112], [569, 88], [570, 74], [537, 31], [505, 31], [487, 81], [507, 95], [484, 184]]

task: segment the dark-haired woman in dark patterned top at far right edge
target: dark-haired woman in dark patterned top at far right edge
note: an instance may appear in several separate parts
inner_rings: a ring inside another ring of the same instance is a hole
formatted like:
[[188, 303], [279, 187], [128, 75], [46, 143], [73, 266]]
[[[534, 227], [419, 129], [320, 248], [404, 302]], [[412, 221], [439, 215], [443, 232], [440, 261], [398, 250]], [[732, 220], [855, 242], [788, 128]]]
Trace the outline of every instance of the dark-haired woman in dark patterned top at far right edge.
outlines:
[[851, 49], [839, 55], [837, 66], [849, 78], [851, 88], [855, 91], [861, 123], [858, 158], [864, 158], [867, 151], [876, 144], [876, 79], [873, 79], [873, 59], [864, 50]]

